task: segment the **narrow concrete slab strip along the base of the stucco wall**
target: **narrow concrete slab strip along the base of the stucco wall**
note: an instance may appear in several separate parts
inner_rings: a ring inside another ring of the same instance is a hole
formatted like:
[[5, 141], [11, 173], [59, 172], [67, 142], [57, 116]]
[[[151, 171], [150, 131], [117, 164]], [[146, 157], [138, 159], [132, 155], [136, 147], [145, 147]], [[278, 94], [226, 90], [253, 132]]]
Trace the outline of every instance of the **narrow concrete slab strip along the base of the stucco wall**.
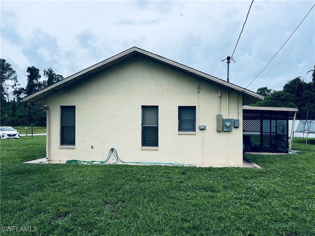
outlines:
[[[44, 158], [39, 158], [36, 160], [32, 160], [32, 161], [26, 161], [24, 163], [27, 164], [65, 164], [65, 162], [62, 161], [48, 161], [46, 157]], [[87, 163], [85, 163], [86, 165], [88, 165]], [[115, 165], [136, 165], [136, 164], [131, 164], [131, 163], [116, 163]], [[148, 164], [149, 165], [149, 164]], [[154, 165], [154, 164], [152, 164]], [[172, 166], [172, 165], [170, 165]], [[187, 165], [188, 166], [188, 165]], [[254, 169], [261, 169], [260, 166], [258, 166], [257, 164], [248, 161], [248, 160], [243, 160], [243, 165], [193, 165], [191, 164], [191, 167], [216, 167], [216, 168], [220, 168], [220, 167], [247, 167], [247, 168], [254, 168]]]

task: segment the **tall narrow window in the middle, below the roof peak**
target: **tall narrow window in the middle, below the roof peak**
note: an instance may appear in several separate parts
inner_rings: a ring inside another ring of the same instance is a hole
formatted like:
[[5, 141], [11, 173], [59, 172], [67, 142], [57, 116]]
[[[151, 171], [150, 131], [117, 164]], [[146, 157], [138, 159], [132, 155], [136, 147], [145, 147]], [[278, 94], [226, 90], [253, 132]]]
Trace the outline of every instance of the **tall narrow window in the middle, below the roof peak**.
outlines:
[[142, 106], [142, 146], [158, 147], [158, 106]]

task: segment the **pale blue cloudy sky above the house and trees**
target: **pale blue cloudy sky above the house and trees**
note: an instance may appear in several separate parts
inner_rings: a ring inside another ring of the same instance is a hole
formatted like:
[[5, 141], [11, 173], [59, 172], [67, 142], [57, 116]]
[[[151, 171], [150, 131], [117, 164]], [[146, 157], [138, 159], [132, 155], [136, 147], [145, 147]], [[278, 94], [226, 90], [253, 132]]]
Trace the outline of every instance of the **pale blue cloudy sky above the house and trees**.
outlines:
[[[232, 55], [251, 3], [1, 0], [0, 57], [22, 87], [29, 66], [68, 77], [133, 46], [226, 80], [221, 60]], [[281, 47], [248, 89], [281, 90], [297, 76], [312, 81], [306, 72], [315, 65], [314, 4], [254, 0], [230, 63], [230, 83], [248, 87]]]

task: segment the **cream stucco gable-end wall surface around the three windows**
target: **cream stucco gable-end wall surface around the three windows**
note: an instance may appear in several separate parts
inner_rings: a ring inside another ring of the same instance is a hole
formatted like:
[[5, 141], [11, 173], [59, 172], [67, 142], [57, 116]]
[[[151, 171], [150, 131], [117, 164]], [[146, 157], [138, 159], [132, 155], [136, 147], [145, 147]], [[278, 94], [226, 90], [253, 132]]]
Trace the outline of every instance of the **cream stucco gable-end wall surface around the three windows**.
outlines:
[[[216, 131], [218, 90], [223, 118], [240, 119], [240, 127], [231, 132]], [[241, 166], [242, 96], [229, 92], [226, 117], [226, 94], [226, 89], [137, 56], [47, 97], [49, 161], [103, 161], [115, 148], [128, 162]], [[60, 106], [76, 107], [75, 148], [60, 147]], [[158, 150], [141, 148], [141, 106], [158, 106]], [[178, 106], [196, 106], [195, 134], [178, 133]], [[200, 131], [199, 124], [206, 130]]]

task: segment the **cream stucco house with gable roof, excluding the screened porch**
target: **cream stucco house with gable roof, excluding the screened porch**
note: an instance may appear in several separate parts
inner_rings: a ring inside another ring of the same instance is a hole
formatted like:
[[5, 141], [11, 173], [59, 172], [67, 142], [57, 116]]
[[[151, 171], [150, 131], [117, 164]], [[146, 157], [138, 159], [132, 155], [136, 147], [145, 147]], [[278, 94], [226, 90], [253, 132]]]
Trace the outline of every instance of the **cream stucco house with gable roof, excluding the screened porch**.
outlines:
[[47, 109], [49, 163], [115, 148], [126, 162], [242, 166], [243, 105], [263, 98], [133, 47], [22, 101]]

